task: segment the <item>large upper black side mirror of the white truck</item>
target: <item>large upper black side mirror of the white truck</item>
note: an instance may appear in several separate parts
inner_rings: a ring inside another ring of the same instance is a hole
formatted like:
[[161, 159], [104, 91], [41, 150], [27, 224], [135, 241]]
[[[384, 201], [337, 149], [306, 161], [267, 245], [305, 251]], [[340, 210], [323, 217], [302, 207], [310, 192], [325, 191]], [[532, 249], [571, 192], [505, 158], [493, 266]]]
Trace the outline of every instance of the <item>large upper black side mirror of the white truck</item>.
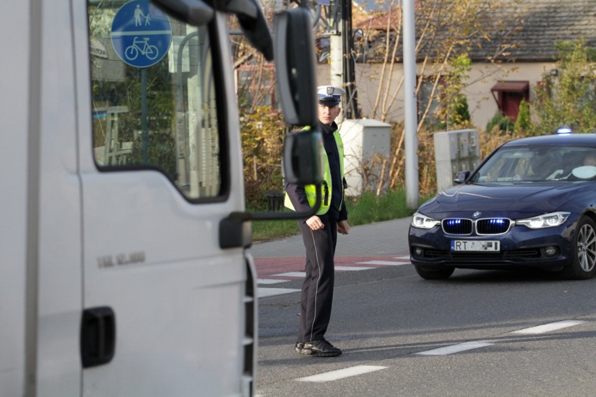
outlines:
[[285, 122], [291, 125], [312, 126], [317, 122], [313, 43], [311, 14], [306, 8], [276, 14], [276, 79]]

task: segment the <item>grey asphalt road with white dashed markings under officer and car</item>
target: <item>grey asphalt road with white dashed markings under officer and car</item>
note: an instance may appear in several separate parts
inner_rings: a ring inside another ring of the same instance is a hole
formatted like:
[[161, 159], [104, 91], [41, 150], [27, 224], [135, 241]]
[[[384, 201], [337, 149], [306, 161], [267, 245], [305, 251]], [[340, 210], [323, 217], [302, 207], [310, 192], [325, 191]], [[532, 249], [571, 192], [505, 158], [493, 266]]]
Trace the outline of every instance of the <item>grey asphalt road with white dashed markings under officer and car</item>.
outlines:
[[257, 396], [596, 395], [596, 279], [455, 270], [423, 280], [407, 261], [408, 224], [339, 236], [347, 270], [337, 271], [327, 332], [343, 349], [334, 358], [293, 352], [299, 236], [251, 249], [260, 290], [278, 291], [260, 298]]

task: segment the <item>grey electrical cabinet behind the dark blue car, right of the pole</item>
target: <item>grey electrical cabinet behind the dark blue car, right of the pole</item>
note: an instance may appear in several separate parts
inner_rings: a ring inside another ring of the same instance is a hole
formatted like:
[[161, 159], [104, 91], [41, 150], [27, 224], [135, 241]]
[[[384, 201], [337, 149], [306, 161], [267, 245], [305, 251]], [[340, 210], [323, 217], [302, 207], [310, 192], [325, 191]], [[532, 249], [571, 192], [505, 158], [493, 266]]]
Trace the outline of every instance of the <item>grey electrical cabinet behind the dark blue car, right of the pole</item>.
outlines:
[[437, 192], [453, 186], [460, 171], [472, 171], [480, 163], [478, 131], [461, 129], [434, 134], [434, 158], [437, 163]]

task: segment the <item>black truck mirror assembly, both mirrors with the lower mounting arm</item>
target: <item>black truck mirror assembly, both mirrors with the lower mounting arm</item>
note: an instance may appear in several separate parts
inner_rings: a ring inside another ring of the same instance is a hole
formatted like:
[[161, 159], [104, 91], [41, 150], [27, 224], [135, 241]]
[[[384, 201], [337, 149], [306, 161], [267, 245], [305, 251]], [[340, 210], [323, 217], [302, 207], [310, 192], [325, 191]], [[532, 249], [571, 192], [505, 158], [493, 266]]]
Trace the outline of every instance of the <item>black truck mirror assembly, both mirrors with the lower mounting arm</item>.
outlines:
[[[165, 0], [163, 0], [165, 1]], [[231, 1], [223, 2], [231, 10]], [[239, 3], [247, 5], [251, 1]], [[218, 2], [215, 2], [218, 4]], [[237, 4], [236, 4], [237, 5]], [[236, 10], [236, 8], [234, 8]], [[250, 7], [242, 14], [250, 14]], [[236, 10], [236, 13], [238, 11]], [[238, 15], [238, 14], [236, 14]], [[257, 18], [258, 20], [258, 18]], [[253, 22], [257, 21], [253, 20]], [[264, 29], [257, 29], [264, 32]], [[255, 32], [253, 39], [260, 37]], [[250, 38], [250, 37], [249, 37]], [[267, 47], [267, 40], [261, 40]], [[315, 50], [313, 48], [311, 15], [305, 8], [292, 8], [278, 13], [274, 20], [274, 55], [278, 94], [285, 122], [310, 129], [291, 133], [283, 146], [283, 173], [287, 182], [299, 185], [320, 183], [322, 137], [312, 127], [317, 124], [315, 89]], [[267, 57], [267, 54], [265, 54]], [[252, 240], [252, 220], [299, 219], [314, 215], [322, 203], [320, 189], [316, 189], [315, 204], [306, 212], [232, 212], [220, 222], [220, 247], [248, 247]]]

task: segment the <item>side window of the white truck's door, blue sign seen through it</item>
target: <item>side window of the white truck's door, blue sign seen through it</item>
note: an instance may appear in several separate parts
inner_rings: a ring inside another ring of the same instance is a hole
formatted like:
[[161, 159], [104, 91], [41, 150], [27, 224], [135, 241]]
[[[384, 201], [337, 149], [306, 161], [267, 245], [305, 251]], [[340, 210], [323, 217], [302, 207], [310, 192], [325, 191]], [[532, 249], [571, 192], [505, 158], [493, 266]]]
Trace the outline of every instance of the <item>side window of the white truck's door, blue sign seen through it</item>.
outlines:
[[89, 0], [87, 10], [97, 167], [157, 170], [191, 200], [224, 194], [208, 28], [147, 0]]

